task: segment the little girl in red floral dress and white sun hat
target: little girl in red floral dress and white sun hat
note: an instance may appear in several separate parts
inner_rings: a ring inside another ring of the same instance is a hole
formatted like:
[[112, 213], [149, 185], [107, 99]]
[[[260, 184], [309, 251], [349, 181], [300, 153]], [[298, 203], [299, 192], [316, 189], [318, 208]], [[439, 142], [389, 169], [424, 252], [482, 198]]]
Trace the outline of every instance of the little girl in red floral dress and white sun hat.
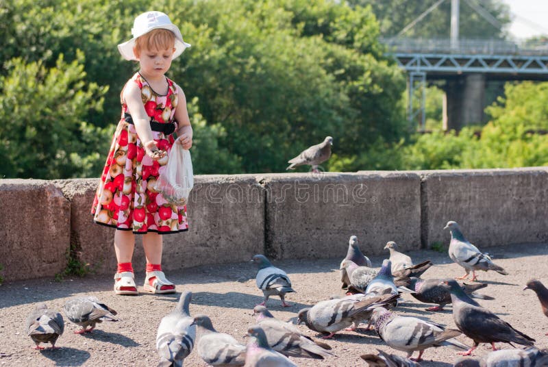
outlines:
[[154, 184], [174, 143], [192, 147], [185, 95], [164, 75], [190, 45], [162, 12], [137, 16], [132, 35], [118, 49], [126, 60], [137, 60], [140, 69], [121, 92], [122, 117], [91, 212], [95, 223], [116, 228], [116, 294], [138, 294], [132, 268], [135, 233], [143, 235], [147, 258], [144, 290], [174, 293], [175, 285], [162, 272], [161, 235], [188, 230], [186, 206], [168, 203]]

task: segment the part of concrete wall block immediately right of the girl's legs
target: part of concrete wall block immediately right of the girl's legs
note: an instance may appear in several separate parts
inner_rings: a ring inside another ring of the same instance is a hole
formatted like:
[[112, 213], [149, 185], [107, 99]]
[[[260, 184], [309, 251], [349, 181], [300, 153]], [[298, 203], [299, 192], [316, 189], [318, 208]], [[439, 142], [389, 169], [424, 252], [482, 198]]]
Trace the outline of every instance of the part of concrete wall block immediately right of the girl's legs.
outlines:
[[198, 175], [188, 231], [164, 236], [163, 267], [251, 260], [264, 253], [264, 188], [254, 175]]

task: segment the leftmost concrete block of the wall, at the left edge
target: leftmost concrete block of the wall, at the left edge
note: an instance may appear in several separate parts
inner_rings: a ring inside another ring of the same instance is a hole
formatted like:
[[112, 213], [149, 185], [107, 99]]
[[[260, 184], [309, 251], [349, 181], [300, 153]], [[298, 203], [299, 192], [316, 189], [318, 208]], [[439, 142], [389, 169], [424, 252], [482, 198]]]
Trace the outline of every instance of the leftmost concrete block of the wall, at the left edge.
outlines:
[[0, 264], [5, 281], [53, 277], [66, 266], [71, 206], [51, 181], [0, 180]]

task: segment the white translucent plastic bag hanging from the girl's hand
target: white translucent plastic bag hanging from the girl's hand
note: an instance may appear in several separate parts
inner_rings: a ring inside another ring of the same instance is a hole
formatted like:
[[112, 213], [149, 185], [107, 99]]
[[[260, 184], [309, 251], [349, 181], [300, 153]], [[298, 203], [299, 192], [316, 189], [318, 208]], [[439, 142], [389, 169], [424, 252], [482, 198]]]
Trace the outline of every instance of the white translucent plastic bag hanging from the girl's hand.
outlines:
[[190, 151], [177, 142], [171, 147], [165, 170], [154, 184], [164, 199], [176, 205], [185, 205], [194, 187]]

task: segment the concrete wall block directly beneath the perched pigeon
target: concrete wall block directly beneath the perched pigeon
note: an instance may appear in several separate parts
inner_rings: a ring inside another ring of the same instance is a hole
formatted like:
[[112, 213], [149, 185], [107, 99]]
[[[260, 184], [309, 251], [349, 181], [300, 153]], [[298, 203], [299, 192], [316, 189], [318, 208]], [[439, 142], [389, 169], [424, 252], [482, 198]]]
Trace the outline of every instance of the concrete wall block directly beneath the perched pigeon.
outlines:
[[[270, 257], [344, 257], [350, 236], [366, 255], [392, 240], [421, 244], [421, 178], [416, 173], [265, 175], [266, 246]], [[386, 252], [388, 255], [388, 252]]]

